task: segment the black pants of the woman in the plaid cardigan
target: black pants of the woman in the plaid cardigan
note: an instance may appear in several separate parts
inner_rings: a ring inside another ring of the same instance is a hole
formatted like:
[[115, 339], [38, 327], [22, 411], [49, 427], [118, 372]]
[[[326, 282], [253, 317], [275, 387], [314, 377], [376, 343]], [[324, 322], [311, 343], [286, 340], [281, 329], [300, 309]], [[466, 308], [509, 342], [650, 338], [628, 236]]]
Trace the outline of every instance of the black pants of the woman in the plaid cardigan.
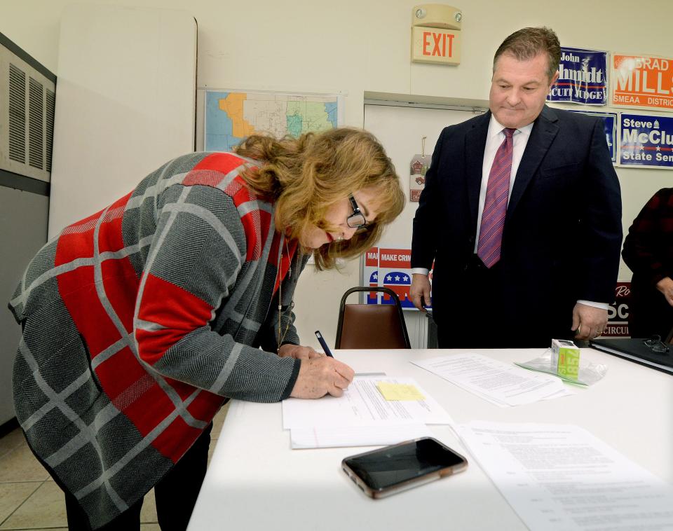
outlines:
[[[156, 514], [161, 531], [184, 531], [196, 504], [198, 491], [208, 467], [210, 424], [168, 474], [154, 485]], [[66, 492], [65, 508], [70, 531], [91, 531], [86, 513], [75, 497]], [[142, 498], [100, 531], [140, 531]]]

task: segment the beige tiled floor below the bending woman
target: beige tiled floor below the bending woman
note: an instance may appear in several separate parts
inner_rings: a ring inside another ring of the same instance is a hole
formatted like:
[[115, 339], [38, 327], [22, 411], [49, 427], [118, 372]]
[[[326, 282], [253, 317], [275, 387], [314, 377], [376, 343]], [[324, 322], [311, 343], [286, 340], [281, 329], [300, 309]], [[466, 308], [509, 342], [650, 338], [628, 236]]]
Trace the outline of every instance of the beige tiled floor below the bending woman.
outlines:
[[[210, 455], [222, 430], [226, 406], [215, 416]], [[154, 490], [142, 504], [143, 531], [159, 531]], [[19, 428], [0, 439], [0, 531], [66, 531], [63, 493], [37, 462]]]

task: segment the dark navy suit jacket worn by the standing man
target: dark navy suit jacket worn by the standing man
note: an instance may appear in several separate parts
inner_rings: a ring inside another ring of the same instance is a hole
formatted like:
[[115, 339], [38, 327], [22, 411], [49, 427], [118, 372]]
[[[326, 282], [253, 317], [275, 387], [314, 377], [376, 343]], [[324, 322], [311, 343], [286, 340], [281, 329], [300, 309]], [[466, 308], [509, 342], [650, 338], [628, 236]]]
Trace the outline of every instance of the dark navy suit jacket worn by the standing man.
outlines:
[[[412, 268], [435, 261], [438, 326], [463, 317], [475, 293], [465, 270], [475, 248], [490, 118], [487, 112], [444, 128], [414, 218]], [[621, 241], [620, 187], [602, 120], [545, 106], [508, 203], [501, 287], [483, 308], [498, 308], [501, 329], [527, 325], [567, 337], [578, 299], [613, 301]], [[488, 333], [489, 324], [481, 326]]]

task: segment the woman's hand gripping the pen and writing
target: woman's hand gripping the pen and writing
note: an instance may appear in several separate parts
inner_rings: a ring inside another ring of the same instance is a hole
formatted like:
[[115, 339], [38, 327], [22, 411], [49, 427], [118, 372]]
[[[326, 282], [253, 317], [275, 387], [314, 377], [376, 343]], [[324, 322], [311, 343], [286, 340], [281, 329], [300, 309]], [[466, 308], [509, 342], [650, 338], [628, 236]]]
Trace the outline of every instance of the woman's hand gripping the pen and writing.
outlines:
[[290, 396], [315, 399], [325, 394], [341, 396], [353, 381], [355, 373], [348, 365], [334, 358], [321, 356], [302, 359], [299, 376]]

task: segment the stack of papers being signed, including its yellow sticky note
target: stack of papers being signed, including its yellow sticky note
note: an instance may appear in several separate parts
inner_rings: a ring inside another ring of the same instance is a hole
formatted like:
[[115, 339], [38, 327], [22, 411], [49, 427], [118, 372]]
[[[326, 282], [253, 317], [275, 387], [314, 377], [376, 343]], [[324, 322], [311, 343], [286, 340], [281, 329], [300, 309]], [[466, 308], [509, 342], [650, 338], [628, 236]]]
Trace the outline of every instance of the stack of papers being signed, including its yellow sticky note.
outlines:
[[430, 436], [428, 424], [453, 424], [412, 378], [356, 377], [343, 396], [283, 401], [292, 448], [378, 446]]

